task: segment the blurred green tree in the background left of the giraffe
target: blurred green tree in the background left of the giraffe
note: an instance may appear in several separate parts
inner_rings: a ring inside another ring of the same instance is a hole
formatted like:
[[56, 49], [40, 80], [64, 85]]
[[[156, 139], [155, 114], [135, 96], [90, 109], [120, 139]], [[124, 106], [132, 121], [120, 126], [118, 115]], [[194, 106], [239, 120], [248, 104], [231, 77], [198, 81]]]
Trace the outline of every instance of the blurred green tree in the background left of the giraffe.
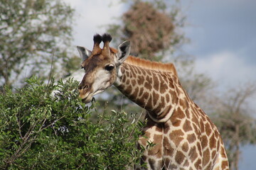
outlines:
[[58, 62], [52, 72], [67, 74], [73, 13], [60, 0], [0, 1], [0, 86], [21, 86], [31, 75], [46, 78], [52, 62]]

